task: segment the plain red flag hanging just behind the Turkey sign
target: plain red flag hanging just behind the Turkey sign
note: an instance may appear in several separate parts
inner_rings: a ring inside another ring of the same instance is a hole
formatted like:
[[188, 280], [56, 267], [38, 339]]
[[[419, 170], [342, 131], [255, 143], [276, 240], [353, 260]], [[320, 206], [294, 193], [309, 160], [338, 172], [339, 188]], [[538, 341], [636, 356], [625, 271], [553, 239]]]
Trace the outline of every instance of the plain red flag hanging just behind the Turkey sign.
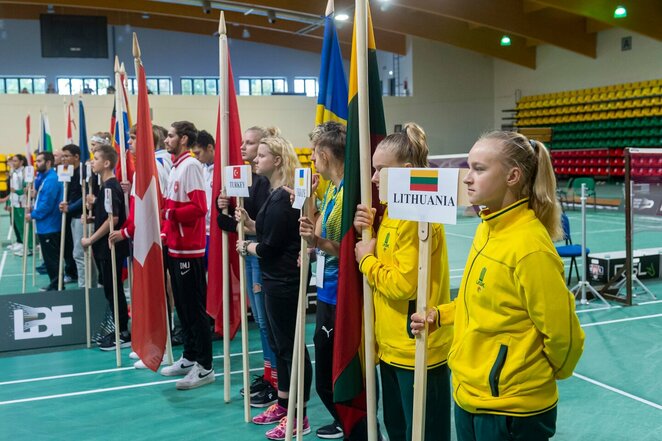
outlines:
[[[221, 163], [221, 107], [219, 104], [216, 118], [216, 149], [214, 150], [214, 176], [212, 183], [211, 222], [209, 226], [209, 260], [207, 280], [207, 314], [215, 320], [215, 331], [223, 335], [223, 234], [218, 227], [218, 207], [216, 199], [221, 192], [222, 172], [226, 165], [241, 165], [241, 127], [239, 125], [239, 110], [237, 96], [234, 90], [232, 64], [228, 53], [228, 107], [230, 111], [228, 124], [229, 164]], [[239, 295], [239, 254], [235, 245], [236, 233], [227, 233], [228, 251], [230, 256], [230, 338], [234, 338], [241, 325], [241, 304]]]

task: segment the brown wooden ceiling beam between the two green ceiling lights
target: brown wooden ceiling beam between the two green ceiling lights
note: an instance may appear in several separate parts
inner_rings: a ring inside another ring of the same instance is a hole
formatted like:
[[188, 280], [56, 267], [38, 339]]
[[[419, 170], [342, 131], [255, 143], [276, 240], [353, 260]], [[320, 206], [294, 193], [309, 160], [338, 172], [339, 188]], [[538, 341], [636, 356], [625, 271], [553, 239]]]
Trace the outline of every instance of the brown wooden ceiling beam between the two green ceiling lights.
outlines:
[[[480, 24], [511, 35], [539, 40], [595, 58], [597, 38], [585, 22], [571, 14], [526, 13], [524, 0], [391, 0], [393, 5], [421, 13]], [[395, 12], [395, 11], [393, 11]], [[541, 11], [545, 12], [545, 11]]]

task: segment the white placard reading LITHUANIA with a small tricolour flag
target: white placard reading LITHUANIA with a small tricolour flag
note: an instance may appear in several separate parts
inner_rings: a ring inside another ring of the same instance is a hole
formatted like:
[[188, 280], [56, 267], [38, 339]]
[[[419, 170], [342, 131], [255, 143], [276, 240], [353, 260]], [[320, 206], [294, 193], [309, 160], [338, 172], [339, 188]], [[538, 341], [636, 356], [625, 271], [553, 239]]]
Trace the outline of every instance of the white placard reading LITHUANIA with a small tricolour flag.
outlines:
[[458, 172], [457, 168], [390, 168], [389, 217], [455, 224]]

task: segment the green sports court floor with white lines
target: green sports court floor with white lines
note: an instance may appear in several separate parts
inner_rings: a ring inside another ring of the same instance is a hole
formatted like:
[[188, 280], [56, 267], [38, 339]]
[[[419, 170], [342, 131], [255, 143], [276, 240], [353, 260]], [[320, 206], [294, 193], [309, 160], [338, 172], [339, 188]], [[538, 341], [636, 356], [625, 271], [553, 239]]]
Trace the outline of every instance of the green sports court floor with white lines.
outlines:
[[[579, 212], [569, 212], [573, 238], [580, 239]], [[447, 226], [451, 283], [457, 287], [478, 221], [463, 218]], [[638, 219], [636, 247], [662, 246], [655, 219]], [[6, 217], [0, 234], [6, 239]], [[623, 213], [589, 210], [587, 244], [593, 252], [624, 246]], [[46, 283], [42, 278], [37, 283]], [[573, 279], [573, 284], [575, 280]], [[31, 280], [30, 280], [31, 284]], [[20, 258], [0, 261], [0, 293], [20, 292]], [[662, 283], [646, 281], [662, 299]], [[555, 440], [662, 440], [662, 300], [639, 292], [637, 306], [599, 303], [578, 307], [586, 347], [576, 374], [559, 382], [560, 404]], [[312, 317], [309, 317], [309, 321]], [[312, 324], [307, 328], [311, 343]], [[232, 401], [223, 400], [221, 342], [215, 342], [216, 383], [177, 391], [175, 380], [131, 367], [115, 368], [114, 353], [64, 348], [35, 353], [0, 354], [0, 439], [35, 440], [261, 440], [265, 426], [243, 422], [240, 340], [232, 342]], [[259, 337], [249, 334], [251, 367], [260, 371]], [[128, 350], [123, 365], [131, 366]], [[175, 355], [179, 352], [175, 348]], [[311, 351], [314, 358], [314, 351]], [[258, 411], [253, 410], [253, 415]], [[313, 394], [313, 430], [329, 421]], [[307, 439], [316, 439], [314, 434]]]

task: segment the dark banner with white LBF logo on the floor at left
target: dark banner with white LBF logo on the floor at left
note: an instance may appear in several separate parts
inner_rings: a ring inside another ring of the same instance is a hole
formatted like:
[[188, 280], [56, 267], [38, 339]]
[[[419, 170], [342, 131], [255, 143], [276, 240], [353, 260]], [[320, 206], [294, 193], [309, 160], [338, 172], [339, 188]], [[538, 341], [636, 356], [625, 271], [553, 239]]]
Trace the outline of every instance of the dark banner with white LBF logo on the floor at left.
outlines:
[[[94, 334], [106, 308], [103, 291], [90, 290]], [[0, 351], [85, 343], [85, 291], [0, 296]]]

